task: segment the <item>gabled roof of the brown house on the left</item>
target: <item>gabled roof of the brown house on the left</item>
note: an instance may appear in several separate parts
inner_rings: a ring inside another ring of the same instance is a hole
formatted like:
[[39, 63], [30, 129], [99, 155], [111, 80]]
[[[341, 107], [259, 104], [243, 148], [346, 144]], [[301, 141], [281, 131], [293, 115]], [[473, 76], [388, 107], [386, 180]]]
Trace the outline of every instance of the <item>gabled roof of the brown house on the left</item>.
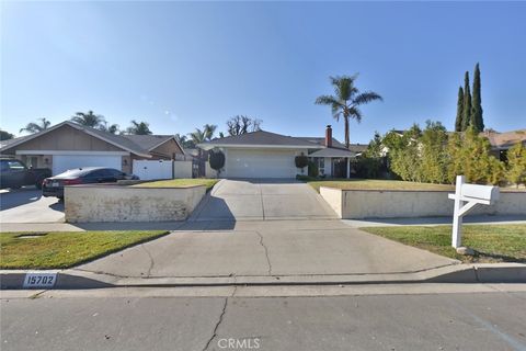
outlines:
[[0, 144], [0, 151], [10, 149], [25, 141], [37, 138], [44, 134], [58, 129], [65, 125], [68, 125], [78, 131], [82, 131], [93, 137], [102, 139], [108, 144], [112, 144], [116, 147], [119, 147], [124, 150], [127, 150], [132, 154], [142, 156], [142, 157], [151, 157], [151, 155], [149, 154], [151, 149], [164, 144], [165, 141], [172, 138], [175, 140], [175, 143], [178, 143], [181, 151], [183, 151], [183, 148], [181, 147], [181, 145], [179, 144], [179, 141], [175, 139], [173, 135], [117, 135], [117, 134], [112, 134], [104, 131], [95, 129], [92, 127], [87, 127], [70, 121], [65, 121], [62, 123], [56, 124], [45, 131], [42, 131], [35, 134], [26, 135], [26, 136], [10, 139], [10, 140], [3, 140]]

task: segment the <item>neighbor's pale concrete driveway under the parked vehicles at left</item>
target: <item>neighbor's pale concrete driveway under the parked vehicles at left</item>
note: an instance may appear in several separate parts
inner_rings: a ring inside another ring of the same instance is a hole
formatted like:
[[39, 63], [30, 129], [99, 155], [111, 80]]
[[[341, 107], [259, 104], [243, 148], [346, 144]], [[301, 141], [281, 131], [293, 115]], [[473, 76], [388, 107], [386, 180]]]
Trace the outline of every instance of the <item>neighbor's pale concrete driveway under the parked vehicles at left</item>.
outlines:
[[0, 222], [64, 222], [64, 203], [56, 197], [43, 197], [34, 186], [0, 191]]

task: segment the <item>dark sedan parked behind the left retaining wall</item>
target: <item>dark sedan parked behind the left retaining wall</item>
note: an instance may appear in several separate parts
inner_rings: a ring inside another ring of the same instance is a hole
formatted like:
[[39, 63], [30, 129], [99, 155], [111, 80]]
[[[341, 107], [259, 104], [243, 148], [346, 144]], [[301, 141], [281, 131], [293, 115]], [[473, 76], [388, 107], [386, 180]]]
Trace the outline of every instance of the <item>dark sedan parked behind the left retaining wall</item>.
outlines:
[[114, 168], [84, 167], [70, 169], [55, 177], [46, 178], [42, 186], [43, 196], [64, 199], [65, 185], [115, 183], [118, 180], [138, 180], [134, 174], [126, 174]]

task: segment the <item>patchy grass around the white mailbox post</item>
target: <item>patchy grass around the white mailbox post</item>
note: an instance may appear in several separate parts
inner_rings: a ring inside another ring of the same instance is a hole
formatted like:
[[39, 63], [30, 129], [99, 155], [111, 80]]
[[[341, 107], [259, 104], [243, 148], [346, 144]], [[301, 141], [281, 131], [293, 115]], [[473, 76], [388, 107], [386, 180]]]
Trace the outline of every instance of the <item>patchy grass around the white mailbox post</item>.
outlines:
[[451, 245], [451, 226], [367, 227], [362, 230], [464, 262], [526, 263], [526, 225], [465, 225], [462, 245], [477, 251], [461, 256]]

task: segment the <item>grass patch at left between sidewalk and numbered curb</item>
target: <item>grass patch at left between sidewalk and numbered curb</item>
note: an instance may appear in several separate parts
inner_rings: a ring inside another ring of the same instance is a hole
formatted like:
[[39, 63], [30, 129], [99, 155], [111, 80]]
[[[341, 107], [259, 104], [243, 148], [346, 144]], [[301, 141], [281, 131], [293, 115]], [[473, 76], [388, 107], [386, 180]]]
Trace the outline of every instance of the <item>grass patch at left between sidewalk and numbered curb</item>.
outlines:
[[1, 233], [0, 268], [70, 268], [165, 234], [165, 230]]

